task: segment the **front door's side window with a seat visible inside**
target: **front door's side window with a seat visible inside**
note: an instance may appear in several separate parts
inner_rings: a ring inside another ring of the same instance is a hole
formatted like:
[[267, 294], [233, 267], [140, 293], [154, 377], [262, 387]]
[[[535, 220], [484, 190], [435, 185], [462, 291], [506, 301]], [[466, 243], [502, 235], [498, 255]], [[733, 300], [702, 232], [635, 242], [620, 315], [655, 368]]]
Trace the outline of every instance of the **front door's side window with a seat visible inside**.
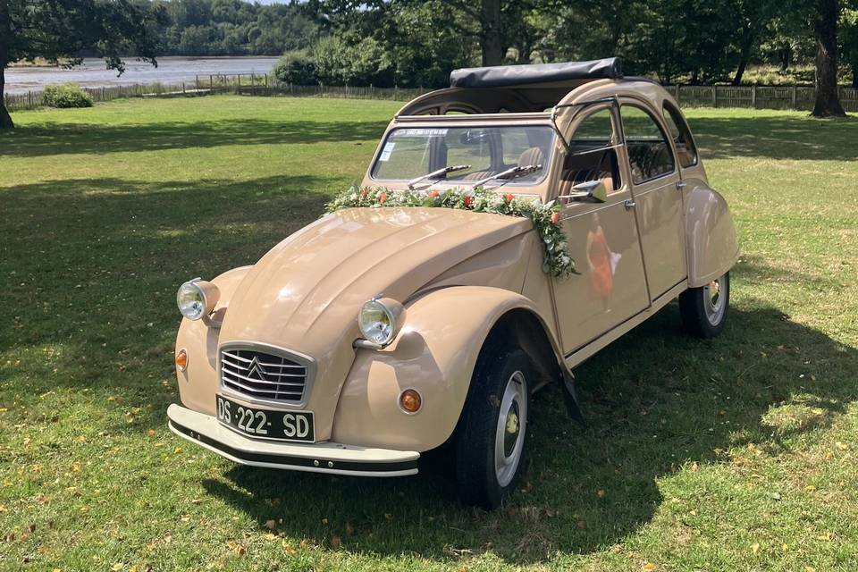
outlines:
[[561, 175], [561, 195], [571, 192], [572, 185], [587, 181], [605, 183], [608, 192], [622, 187], [619, 180], [614, 124], [610, 108], [595, 111], [578, 123], [569, 139], [569, 149]]

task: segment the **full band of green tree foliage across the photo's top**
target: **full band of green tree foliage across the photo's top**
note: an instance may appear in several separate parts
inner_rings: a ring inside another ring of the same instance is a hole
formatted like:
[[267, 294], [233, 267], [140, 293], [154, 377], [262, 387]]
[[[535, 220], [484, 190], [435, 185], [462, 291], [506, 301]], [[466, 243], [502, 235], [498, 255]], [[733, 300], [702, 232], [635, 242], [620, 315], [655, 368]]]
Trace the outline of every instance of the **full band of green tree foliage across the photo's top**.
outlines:
[[4, 66], [81, 55], [283, 55], [285, 82], [426, 88], [457, 67], [610, 55], [666, 83], [813, 65], [837, 111], [837, 72], [858, 87], [858, 0], [0, 0]]

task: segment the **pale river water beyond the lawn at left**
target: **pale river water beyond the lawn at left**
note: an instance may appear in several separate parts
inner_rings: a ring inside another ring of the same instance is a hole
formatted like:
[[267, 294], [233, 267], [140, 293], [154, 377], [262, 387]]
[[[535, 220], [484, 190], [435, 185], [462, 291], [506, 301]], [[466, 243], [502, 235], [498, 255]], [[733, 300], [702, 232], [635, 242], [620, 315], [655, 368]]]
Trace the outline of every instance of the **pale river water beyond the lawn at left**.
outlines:
[[6, 69], [6, 93], [39, 91], [55, 83], [77, 83], [88, 88], [130, 85], [135, 83], [179, 84], [193, 83], [209, 74], [269, 73], [277, 63], [276, 57], [159, 57], [158, 67], [150, 63], [126, 60], [125, 73], [105, 70], [104, 60], [86, 59], [71, 70], [61, 68], [14, 67]]

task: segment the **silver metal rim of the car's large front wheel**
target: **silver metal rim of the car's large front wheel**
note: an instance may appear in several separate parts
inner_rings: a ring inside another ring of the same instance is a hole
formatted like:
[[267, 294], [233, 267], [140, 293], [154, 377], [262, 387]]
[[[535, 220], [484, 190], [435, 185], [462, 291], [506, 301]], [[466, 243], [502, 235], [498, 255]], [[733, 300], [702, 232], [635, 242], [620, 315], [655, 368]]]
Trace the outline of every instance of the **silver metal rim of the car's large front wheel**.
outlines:
[[494, 439], [494, 472], [501, 486], [507, 486], [516, 475], [521, 452], [525, 448], [526, 391], [524, 374], [515, 372], [509, 376], [501, 398]]

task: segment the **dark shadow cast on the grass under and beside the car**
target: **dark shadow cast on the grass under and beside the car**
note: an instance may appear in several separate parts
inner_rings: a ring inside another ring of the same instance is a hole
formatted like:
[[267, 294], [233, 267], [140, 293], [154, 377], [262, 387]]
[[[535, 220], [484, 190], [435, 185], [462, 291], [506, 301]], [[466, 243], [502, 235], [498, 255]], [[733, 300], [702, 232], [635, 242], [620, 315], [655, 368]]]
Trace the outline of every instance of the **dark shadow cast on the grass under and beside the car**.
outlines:
[[[753, 300], [711, 341], [680, 332], [673, 304], [577, 368], [585, 428], [568, 418], [557, 387], [537, 394], [528, 470], [497, 511], [456, 500], [444, 451], [428, 474], [401, 479], [234, 467], [203, 485], [261, 531], [357, 553], [492, 552], [526, 564], [601, 551], [652, 519], [665, 501], [659, 479], [730, 463], [730, 447], [767, 442], [777, 454], [796, 433], [831, 423], [856, 399], [856, 364], [854, 348]], [[772, 426], [786, 403], [816, 413]]]

